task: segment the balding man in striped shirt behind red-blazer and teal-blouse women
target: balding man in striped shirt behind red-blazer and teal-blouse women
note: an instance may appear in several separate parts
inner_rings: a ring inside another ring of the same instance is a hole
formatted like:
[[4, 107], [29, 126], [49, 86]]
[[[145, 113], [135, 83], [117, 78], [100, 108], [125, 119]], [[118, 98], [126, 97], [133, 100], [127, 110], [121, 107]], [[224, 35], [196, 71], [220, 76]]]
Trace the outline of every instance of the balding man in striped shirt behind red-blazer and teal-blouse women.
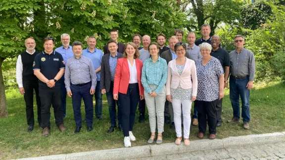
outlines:
[[[142, 45], [143, 48], [140, 50], [140, 57], [139, 59], [142, 60], [142, 63], [147, 60], [150, 57], [150, 53], [148, 51], [148, 45], [150, 44], [151, 40], [148, 35], [144, 35], [142, 37]], [[144, 113], [145, 113], [145, 101], [140, 100], [139, 102], [139, 111], [140, 111], [140, 117], [139, 122], [143, 122], [145, 120]]]

